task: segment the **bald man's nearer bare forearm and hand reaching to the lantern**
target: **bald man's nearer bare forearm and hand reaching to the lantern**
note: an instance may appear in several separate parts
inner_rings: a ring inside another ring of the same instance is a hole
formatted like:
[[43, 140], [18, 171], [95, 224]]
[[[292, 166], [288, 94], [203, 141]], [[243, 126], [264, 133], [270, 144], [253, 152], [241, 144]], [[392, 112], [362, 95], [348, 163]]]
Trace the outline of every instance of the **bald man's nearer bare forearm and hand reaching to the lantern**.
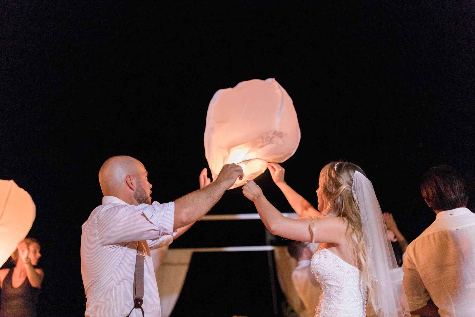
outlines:
[[190, 225], [203, 217], [223, 196], [226, 189], [233, 186], [237, 178], [243, 177], [240, 166], [227, 164], [212, 184], [175, 200], [173, 230]]

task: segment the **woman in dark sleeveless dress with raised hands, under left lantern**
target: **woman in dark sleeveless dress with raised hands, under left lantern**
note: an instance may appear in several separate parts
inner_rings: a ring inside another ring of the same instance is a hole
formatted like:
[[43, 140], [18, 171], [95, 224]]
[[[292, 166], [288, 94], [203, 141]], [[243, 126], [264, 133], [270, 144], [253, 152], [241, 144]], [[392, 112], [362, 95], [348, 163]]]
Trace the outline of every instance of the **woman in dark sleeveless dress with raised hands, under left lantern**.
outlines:
[[11, 256], [16, 266], [0, 270], [0, 317], [38, 316], [38, 294], [44, 277], [43, 270], [34, 267], [41, 257], [39, 250], [36, 239], [25, 238]]

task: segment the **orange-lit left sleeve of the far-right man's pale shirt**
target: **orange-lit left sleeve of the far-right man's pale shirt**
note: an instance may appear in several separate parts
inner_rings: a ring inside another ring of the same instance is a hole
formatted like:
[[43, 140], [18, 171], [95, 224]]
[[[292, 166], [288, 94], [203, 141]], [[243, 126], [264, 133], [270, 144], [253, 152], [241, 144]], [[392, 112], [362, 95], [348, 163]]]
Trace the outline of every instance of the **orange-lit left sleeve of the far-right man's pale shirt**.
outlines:
[[407, 252], [404, 258], [402, 269], [404, 271], [402, 285], [408, 299], [409, 311], [415, 311], [426, 306], [430, 298], [429, 292], [424, 286], [410, 252]]

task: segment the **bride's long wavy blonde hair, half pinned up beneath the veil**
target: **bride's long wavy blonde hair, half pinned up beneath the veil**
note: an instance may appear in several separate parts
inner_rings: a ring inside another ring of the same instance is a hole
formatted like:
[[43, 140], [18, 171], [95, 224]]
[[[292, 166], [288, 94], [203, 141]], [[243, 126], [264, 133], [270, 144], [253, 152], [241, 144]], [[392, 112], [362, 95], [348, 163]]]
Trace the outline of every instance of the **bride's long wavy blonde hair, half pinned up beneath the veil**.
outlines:
[[[330, 162], [322, 168], [318, 186], [323, 197], [327, 199], [325, 210], [322, 210], [323, 213], [345, 220], [346, 243], [350, 247], [356, 267], [361, 271], [362, 281], [368, 291], [368, 301], [371, 301], [372, 306], [375, 307], [375, 303], [373, 303], [375, 287], [364, 248], [360, 208], [352, 193], [355, 171], [366, 176], [356, 164], [345, 161]], [[314, 222], [318, 221], [317, 219], [314, 218], [310, 223], [309, 229], [312, 237], [315, 236]]]

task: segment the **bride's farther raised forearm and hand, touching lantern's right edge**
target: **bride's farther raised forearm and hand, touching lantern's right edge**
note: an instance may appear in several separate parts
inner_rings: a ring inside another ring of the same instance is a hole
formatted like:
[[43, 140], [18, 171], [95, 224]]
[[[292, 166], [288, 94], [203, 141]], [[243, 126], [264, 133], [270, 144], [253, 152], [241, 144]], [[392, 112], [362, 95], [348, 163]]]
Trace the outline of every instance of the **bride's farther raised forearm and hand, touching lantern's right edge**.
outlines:
[[284, 193], [290, 206], [295, 210], [299, 217], [322, 217], [322, 213], [312, 206], [305, 198], [299, 195], [284, 180], [285, 169], [277, 163], [267, 163], [272, 180], [277, 187]]

